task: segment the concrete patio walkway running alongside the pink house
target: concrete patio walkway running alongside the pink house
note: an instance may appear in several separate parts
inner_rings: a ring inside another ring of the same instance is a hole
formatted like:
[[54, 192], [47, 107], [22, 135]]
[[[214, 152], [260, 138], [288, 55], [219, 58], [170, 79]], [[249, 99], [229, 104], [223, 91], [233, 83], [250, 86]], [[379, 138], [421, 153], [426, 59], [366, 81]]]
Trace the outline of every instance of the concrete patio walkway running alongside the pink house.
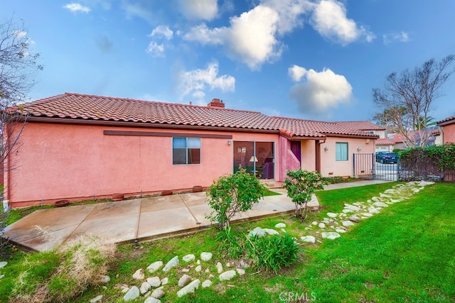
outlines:
[[[384, 181], [331, 184], [326, 190], [380, 182]], [[294, 203], [287, 197], [285, 189], [271, 190], [281, 195], [264, 197], [250, 211], [232, 221], [257, 220], [294, 212]], [[319, 206], [316, 197], [308, 206]], [[58, 249], [84, 233], [107, 238], [112, 243], [132, 243], [209, 228], [211, 223], [205, 215], [211, 211], [205, 192], [40, 209], [7, 226], [4, 237], [27, 250], [39, 251]]]

